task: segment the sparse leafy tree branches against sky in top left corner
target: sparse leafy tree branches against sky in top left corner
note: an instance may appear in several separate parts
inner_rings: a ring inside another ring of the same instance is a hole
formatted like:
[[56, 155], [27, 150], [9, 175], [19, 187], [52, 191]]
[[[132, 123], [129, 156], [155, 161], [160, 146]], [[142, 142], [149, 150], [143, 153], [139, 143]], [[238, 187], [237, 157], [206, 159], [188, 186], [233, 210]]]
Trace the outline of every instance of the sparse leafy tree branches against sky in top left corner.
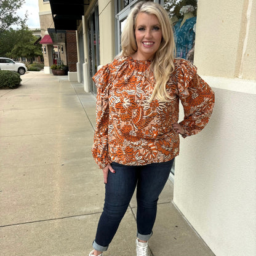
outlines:
[[0, 1], [0, 34], [9, 30], [12, 25], [25, 26], [28, 14], [25, 15], [24, 19], [16, 14], [17, 10], [22, 7], [24, 2], [23, 0]]

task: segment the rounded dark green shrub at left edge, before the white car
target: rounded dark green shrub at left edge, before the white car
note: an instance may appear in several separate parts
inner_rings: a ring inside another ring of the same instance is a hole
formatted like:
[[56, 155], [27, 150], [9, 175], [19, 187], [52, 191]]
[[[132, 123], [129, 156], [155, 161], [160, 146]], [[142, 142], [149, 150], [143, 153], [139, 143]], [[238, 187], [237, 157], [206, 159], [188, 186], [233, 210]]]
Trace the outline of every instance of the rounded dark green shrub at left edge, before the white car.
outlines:
[[0, 88], [17, 88], [20, 86], [20, 74], [9, 70], [0, 70]]

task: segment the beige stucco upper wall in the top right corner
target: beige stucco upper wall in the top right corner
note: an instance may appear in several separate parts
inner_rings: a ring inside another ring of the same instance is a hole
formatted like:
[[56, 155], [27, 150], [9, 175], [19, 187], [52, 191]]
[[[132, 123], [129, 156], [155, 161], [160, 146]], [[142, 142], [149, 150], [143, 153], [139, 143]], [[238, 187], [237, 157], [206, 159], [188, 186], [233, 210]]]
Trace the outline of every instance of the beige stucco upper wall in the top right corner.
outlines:
[[201, 74], [256, 79], [255, 14], [253, 0], [198, 1], [194, 58]]

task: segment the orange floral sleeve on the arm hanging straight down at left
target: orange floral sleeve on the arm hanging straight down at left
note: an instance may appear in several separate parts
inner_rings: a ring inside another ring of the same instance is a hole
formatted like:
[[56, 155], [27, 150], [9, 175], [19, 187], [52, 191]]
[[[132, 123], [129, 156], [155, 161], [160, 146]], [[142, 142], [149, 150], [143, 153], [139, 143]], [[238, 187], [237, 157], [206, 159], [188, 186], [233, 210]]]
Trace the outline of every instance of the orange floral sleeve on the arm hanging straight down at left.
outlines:
[[108, 89], [110, 87], [110, 70], [103, 66], [92, 78], [97, 87], [96, 127], [92, 156], [100, 169], [111, 163], [108, 155]]

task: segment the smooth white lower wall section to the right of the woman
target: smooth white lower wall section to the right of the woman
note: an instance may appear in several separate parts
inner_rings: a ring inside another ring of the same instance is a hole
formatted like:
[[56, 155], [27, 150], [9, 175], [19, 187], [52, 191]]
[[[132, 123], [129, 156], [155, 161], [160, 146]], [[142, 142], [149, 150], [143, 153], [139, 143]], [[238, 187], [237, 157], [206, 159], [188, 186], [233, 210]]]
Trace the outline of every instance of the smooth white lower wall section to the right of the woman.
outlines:
[[256, 95], [214, 91], [209, 124], [181, 140], [174, 202], [217, 256], [255, 256]]

